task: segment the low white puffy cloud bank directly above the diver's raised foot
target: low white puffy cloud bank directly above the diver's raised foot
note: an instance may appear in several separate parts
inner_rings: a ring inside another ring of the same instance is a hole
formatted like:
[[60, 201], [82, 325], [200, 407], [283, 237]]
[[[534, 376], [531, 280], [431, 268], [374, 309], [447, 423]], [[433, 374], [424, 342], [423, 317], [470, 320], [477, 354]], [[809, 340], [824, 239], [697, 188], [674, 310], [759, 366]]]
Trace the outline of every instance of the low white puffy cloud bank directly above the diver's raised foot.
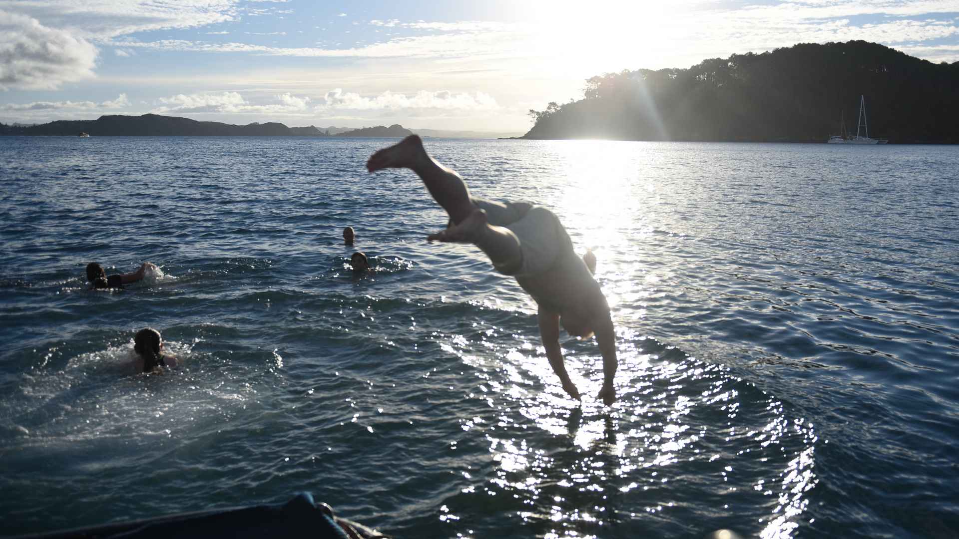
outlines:
[[386, 109], [440, 109], [440, 110], [495, 110], [499, 108], [496, 100], [489, 94], [477, 92], [452, 93], [446, 90], [431, 92], [421, 90], [411, 96], [401, 93], [383, 92], [364, 97], [354, 92], [343, 92], [340, 88], [327, 92], [323, 104], [316, 105], [317, 111], [330, 109], [349, 110], [386, 110]]

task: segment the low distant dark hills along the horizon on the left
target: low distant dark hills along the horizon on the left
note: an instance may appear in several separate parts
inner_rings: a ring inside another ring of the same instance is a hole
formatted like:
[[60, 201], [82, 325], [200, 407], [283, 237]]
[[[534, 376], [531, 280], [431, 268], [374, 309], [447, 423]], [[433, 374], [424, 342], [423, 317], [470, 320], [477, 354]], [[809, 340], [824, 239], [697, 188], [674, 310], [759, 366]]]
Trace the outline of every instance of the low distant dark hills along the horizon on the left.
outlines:
[[6, 126], [0, 124], [0, 135], [47, 135], [47, 136], [368, 136], [403, 137], [412, 134], [409, 129], [393, 125], [388, 128], [352, 129], [331, 135], [329, 129], [321, 131], [314, 126], [288, 128], [283, 124], [248, 124], [234, 126], [220, 122], [199, 122], [189, 118], [144, 114], [124, 116], [120, 114], [101, 116], [96, 120], [59, 120], [37, 126]]

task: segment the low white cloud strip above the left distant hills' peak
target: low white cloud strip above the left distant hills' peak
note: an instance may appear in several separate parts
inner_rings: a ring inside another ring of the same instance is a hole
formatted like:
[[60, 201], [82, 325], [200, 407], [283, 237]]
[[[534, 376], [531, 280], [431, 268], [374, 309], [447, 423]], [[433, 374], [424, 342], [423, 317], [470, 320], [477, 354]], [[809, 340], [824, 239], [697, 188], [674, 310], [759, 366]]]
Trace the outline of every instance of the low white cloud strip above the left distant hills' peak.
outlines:
[[239, 92], [177, 94], [157, 100], [160, 106], [152, 112], [167, 113], [231, 113], [231, 114], [306, 114], [309, 112], [310, 98], [296, 97], [290, 93], [273, 96], [279, 103], [254, 105], [246, 101]]

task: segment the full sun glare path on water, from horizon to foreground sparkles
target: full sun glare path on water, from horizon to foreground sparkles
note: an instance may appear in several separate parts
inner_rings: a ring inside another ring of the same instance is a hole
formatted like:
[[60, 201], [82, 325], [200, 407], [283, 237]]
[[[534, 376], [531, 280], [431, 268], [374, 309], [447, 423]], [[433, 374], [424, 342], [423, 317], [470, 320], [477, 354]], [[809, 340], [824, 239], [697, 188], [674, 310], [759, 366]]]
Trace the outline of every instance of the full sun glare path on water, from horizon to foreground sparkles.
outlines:
[[544, 151], [558, 176], [543, 178], [536, 201], [560, 216], [578, 252], [596, 250], [596, 279], [618, 329], [619, 401], [596, 402], [595, 342], [562, 342], [583, 395], [577, 403], [523, 330], [443, 339], [444, 350], [476, 367], [478, 389], [468, 396], [483, 411], [460, 426], [492, 463], [446, 501], [445, 514], [460, 519], [450, 535], [473, 534], [497, 515], [523, 537], [700, 536], [723, 527], [794, 536], [817, 482], [813, 426], [728, 368], [633, 329], [669, 271], [682, 270], [658, 264], [653, 246], [663, 232], [659, 157], [638, 155], [642, 144], [604, 141]]

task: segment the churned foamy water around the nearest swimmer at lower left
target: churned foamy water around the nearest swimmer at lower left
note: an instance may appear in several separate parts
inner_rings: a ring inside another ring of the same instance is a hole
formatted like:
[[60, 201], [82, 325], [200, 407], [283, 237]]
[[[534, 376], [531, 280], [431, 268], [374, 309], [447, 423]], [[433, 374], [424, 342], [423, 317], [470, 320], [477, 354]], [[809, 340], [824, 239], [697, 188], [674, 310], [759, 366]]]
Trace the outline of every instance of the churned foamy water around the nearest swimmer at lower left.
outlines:
[[135, 443], [213, 428], [251, 393], [232, 380], [233, 371], [217, 368], [222, 362], [195, 353], [195, 344], [164, 340], [177, 366], [162, 375], [135, 372], [132, 339], [80, 354], [62, 370], [25, 374], [19, 394], [2, 399], [13, 412], [7, 427], [21, 443], [44, 447], [117, 436]]

